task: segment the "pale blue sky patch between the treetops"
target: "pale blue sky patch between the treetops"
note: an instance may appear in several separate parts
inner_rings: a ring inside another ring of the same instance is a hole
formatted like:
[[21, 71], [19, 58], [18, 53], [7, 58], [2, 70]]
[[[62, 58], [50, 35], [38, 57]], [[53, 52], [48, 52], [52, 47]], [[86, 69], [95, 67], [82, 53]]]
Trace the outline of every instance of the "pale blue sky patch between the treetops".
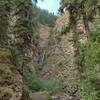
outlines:
[[37, 6], [57, 14], [60, 7], [60, 0], [43, 0], [43, 2], [39, 0]]

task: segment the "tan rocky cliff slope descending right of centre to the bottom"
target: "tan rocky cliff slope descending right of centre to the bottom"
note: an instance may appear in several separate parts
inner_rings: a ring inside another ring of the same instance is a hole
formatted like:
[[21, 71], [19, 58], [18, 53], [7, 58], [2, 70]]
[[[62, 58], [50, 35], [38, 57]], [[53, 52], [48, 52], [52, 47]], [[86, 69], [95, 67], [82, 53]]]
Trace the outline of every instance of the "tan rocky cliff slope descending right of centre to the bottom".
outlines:
[[65, 31], [64, 34], [59, 35], [63, 28], [69, 25], [69, 22], [69, 12], [57, 19], [52, 34], [53, 44], [47, 50], [49, 57], [42, 72], [40, 72], [43, 79], [61, 79], [63, 81], [64, 89], [62, 92], [53, 95], [54, 100], [78, 100], [77, 87], [73, 80], [76, 73], [74, 33]]

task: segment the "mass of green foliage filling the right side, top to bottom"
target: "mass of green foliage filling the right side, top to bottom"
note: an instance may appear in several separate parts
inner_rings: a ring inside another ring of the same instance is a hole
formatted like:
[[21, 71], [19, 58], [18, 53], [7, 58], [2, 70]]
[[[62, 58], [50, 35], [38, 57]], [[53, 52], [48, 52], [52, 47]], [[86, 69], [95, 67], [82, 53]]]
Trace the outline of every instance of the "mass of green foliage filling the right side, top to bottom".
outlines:
[[[100, 21], [95, 20], [100, 13], [100, 0], [61, 0], [62, 7], [68, 4], [70, 4], [70, 26], [72, 26], [70, 28], [76, 33], [74, 42], [77, 48], [76, 63], [79, 73], [75, 77], [75, 82], [79, 86], [83, 100], [100, 100]], [[78, 41], [76, 32], [76, 23], [81, 17], [86, 31], [91, 30], [92, 33], [86, 43]], [[92, 25], [89, 22], [92, 22]]]

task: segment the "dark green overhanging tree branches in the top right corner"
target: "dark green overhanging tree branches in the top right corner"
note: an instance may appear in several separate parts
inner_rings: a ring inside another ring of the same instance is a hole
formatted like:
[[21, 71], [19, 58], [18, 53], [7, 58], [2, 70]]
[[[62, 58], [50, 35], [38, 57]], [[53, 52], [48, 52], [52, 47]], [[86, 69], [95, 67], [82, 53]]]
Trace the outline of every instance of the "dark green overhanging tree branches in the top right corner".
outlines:
[[[60, 11], [68, 6], [70, 12], [70, 29], [76, 30], [77, 21], [83, 18], [86, 31], [90, 31], [89, 22], [93, 22], [97, 13], [100, 13], [99, 0], [61, 0]], [[89, 35], [89, 33], [88, 33]]]

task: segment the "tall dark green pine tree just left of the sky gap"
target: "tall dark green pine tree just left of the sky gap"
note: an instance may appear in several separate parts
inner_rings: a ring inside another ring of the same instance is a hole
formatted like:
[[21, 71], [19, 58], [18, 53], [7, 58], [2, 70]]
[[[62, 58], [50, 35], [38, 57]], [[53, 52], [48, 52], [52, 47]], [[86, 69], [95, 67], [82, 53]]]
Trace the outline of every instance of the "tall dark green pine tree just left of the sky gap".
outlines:
[[15, 0], [15, 24], [12, 25], [11, 34], [14, 37], [11, 50], [14, 56], [14, 63], [18, 70], [23, 73], [25, 68], [34, 69], [33, 63], [33, 35], [34, 24], [32, 18], [32, 1]]

